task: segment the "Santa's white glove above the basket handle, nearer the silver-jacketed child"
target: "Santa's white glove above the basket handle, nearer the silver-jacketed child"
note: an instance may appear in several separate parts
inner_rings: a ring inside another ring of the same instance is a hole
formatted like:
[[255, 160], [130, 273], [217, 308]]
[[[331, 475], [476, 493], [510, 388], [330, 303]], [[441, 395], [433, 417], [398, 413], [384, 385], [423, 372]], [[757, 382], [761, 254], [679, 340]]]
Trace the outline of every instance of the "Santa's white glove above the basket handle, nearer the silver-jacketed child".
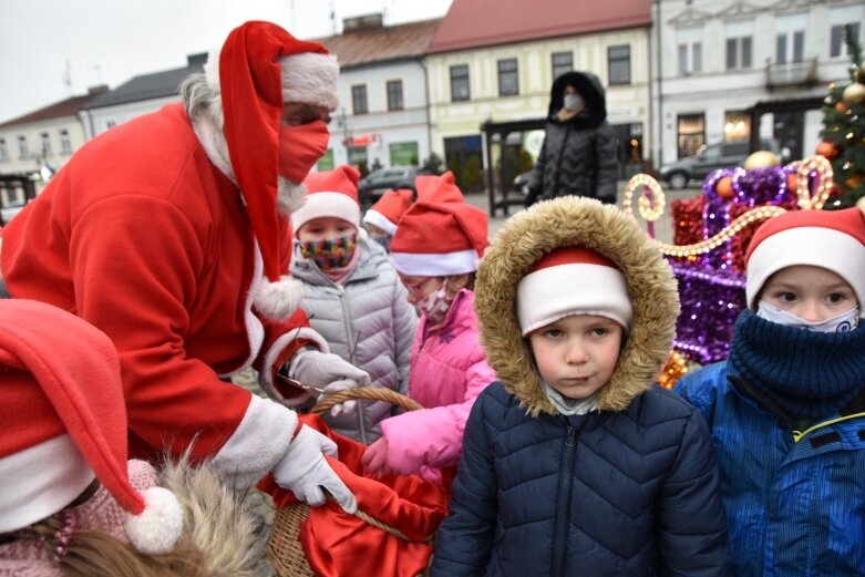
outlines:
[[[370, 375], [367, 371], [346, 362], [339, 354], [312, 350], [298, 352], [291, 361], [288, 374], [303, 384], [322, 389], [325, 393], [319, 396], [319, 401], [326, 394], [370, 384]], [[330, 414], [337, 416], [353, 411], [358, 402], [347, 401], [341, 404], [344, 406], [334, 405]]]

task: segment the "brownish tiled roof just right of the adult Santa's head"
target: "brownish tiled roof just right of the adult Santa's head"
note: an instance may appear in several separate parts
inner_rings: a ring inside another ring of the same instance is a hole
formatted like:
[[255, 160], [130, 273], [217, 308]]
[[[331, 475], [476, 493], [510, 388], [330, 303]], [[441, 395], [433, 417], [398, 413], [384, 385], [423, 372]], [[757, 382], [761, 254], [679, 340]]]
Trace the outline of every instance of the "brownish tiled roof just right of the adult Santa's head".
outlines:
[[336, 37], [316, 39], [337, 55], [342, 69], [422, 56], [442, 21], [420, 20], [391, 27], [372, 27], [343, 31]]

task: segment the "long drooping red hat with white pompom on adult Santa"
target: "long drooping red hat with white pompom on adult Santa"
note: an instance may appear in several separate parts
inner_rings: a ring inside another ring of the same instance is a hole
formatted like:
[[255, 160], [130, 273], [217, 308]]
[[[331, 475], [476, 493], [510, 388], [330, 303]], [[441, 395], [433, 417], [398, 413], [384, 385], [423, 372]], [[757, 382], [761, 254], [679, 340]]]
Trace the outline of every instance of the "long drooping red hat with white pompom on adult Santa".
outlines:
[[297, 40], [276, 24], [255, 21], [234, 29], [205, 65], [208, 85], [222, 97], [231, 169], [261, 251], [266, 280], [256, 291], [255, 305], [271, 319], [288, 318], [301, 296], [300, 287], [280, 268], [282, 217], [277, 190], [282, 105], [303, 102], [336, 109], [338, 74], [336, 59], [318, 42]]

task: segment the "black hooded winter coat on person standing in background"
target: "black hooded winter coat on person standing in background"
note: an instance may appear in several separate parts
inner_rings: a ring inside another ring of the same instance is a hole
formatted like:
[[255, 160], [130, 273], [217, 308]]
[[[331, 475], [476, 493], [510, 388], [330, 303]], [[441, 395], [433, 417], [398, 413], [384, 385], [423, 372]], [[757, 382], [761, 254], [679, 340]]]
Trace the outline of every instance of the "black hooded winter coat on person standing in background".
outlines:
[[[577, 89], [586, 107], [569, 121], [560, 122], [556, 114], [562, 110], [566, 85]], [[550, 90], [544, 144], [527, 183], [528, 204], [565, 195], [616, 203], [618, 142], [606, 119], [606, 96], [597, 76], [569, 72], [556, 79]]]

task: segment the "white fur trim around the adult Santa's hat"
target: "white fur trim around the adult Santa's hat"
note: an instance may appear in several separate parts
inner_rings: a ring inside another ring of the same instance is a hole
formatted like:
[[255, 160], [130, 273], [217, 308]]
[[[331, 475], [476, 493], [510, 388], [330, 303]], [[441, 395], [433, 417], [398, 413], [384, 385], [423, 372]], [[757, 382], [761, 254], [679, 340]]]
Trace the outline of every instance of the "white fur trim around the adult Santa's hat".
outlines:
[[[207, 84], [217, 93], [219, 87], [219, 52], [212, 50], [204, 74]], [[336, 110], [339, 106], [337, 79], [339, 63], [332, 54], [302, 52], [280, 60], [282, 66], [282, 101], [305, 102]]]

